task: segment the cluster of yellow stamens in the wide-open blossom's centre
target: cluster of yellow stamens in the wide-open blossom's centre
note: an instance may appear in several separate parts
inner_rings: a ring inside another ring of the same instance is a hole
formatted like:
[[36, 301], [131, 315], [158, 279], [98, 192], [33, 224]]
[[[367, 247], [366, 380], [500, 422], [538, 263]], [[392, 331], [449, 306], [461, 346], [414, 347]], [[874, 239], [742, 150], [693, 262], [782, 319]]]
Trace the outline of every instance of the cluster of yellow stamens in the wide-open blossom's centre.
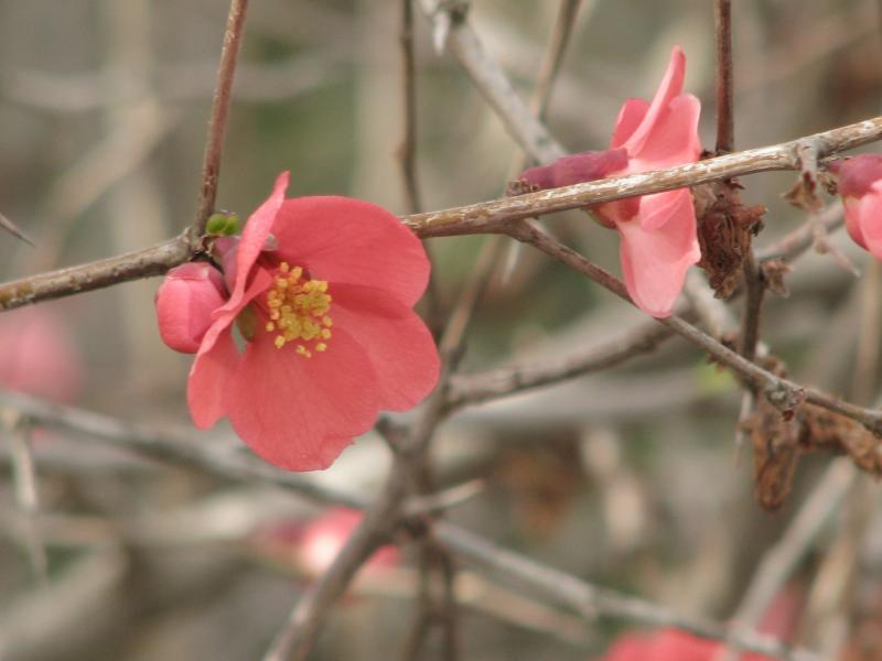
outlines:
[[277, 333], [276, 347], [297, 343], [297, 353], [312, 358], [313, 351], [324, 351], [331, 338], [333, 322], [327, 316], [331, 294], [324, 280], [303, 280], [303, 269], [288, 262], [279, 264], [272, 288], [267, 292], [269, 322], [267, 333]]

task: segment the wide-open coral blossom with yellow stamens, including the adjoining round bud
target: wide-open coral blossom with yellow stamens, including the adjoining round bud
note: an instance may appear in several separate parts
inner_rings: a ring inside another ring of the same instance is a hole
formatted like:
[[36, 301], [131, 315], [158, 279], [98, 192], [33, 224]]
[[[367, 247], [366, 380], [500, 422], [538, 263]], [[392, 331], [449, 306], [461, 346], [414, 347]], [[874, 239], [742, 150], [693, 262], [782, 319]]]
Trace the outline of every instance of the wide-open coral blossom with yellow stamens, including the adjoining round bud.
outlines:
[[439, 359], [411, 310], [430, 270], [419, 239], [367, 202], [286, 199], [288, 178], [279, 176], [240, 238], [215, 241], [223, 273], [207, 263], [169, 272], [157, 316], [165, 344], [196, 354], [187, 381], [196, 426], [226, 415], [268, 462], [314, 470], [380, 409], [426, 397]]

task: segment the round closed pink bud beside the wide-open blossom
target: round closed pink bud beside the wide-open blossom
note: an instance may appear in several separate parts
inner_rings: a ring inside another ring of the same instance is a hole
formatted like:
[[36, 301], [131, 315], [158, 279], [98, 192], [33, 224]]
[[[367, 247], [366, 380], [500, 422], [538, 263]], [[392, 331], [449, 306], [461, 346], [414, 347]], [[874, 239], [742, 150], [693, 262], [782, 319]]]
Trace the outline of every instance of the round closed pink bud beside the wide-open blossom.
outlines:
[[191, 262], [169, 271], [155, 295], [162, 342], [176, 351], [195, 354], [225, 293], [223, 275], [211, 264]]

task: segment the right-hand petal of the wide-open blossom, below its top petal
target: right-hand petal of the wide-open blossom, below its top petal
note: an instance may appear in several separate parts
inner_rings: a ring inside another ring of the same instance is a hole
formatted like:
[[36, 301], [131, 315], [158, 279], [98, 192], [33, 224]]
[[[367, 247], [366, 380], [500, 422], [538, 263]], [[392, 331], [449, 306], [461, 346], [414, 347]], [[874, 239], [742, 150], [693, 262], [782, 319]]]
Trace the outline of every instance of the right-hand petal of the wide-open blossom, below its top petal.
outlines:
[[[422, 319], [394, 296], [369, 286], [333, 283], [334, 337], [345, 328], [365, 349], [377, 376], [379, 407], [406, 411], [438, 382], [440, 361]], [[332, 339], [333, 342], [333, 339]]]

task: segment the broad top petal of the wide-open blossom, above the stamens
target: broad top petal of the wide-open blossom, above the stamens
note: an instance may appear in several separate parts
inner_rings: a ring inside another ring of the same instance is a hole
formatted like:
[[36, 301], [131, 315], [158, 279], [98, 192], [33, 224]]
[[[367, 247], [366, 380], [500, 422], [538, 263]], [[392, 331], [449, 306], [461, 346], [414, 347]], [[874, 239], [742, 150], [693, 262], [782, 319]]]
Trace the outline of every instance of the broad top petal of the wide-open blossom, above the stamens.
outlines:
[[383, 289], [413, 305], [429, 282], [420, 240], [375, 204], [347, 197], [287, 199], [272, 232], [279, 257], [306, 266], [313, 278]]

